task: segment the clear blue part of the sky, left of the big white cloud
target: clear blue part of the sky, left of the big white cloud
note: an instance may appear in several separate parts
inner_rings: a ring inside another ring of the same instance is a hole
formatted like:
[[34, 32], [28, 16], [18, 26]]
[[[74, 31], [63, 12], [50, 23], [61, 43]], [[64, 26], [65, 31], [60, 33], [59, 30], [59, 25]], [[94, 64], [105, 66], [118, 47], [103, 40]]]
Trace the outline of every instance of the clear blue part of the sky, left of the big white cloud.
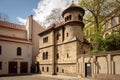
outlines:
[[40, 0], [0, 0], [0, 12], [9, 16], [10, 22], [20, 23], [17, 17], [27, 18], [34, 14]]

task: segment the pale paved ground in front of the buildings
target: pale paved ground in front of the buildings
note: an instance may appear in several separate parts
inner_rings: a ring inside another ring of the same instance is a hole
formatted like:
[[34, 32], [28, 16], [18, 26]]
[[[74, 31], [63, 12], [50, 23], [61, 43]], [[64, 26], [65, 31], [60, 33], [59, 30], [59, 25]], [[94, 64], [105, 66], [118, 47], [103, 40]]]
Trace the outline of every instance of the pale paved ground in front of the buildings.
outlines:
[[96, 80], [88, 78], [79, 78], [79, 77], [70, 77], [70, 76], [61, 76], [61, 75], [26, 75], [26, 76], [8, 76], [0, 77], [0, 80]]

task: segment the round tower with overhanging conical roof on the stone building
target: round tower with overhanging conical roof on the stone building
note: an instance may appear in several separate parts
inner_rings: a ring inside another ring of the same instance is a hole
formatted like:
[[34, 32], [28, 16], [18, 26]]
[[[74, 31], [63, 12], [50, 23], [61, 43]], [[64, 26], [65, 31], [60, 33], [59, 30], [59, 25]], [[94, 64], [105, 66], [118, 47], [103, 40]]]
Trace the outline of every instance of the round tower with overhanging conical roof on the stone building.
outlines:
[[77, 38], [83, 42], [84, 14], [84, 9], [77, 6], [74, 2], [62, 12], [62, 17], [65, 21], [66, 41]]

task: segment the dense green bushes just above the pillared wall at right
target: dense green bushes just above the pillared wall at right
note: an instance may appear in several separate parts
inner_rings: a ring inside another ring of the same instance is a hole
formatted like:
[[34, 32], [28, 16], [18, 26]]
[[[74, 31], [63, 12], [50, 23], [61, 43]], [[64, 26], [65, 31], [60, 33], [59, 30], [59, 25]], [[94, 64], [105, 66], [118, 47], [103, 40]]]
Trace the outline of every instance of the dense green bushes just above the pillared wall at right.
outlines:
[[103, 39], [102, 35], [96, 33], [92, 38], [92, 52], [120, 50], [120, 35], [111, 34]]

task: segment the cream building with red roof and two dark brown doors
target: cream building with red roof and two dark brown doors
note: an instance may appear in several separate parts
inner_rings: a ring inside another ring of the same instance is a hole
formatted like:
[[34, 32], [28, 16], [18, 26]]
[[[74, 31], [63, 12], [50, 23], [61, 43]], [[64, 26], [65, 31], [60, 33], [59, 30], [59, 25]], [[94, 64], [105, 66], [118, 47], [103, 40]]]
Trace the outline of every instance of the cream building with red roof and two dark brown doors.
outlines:
[[31, 72], [39, 52], [38, 33], [42, 30], [32, 16], [26, 25], [0, 21], [0, 75]]

